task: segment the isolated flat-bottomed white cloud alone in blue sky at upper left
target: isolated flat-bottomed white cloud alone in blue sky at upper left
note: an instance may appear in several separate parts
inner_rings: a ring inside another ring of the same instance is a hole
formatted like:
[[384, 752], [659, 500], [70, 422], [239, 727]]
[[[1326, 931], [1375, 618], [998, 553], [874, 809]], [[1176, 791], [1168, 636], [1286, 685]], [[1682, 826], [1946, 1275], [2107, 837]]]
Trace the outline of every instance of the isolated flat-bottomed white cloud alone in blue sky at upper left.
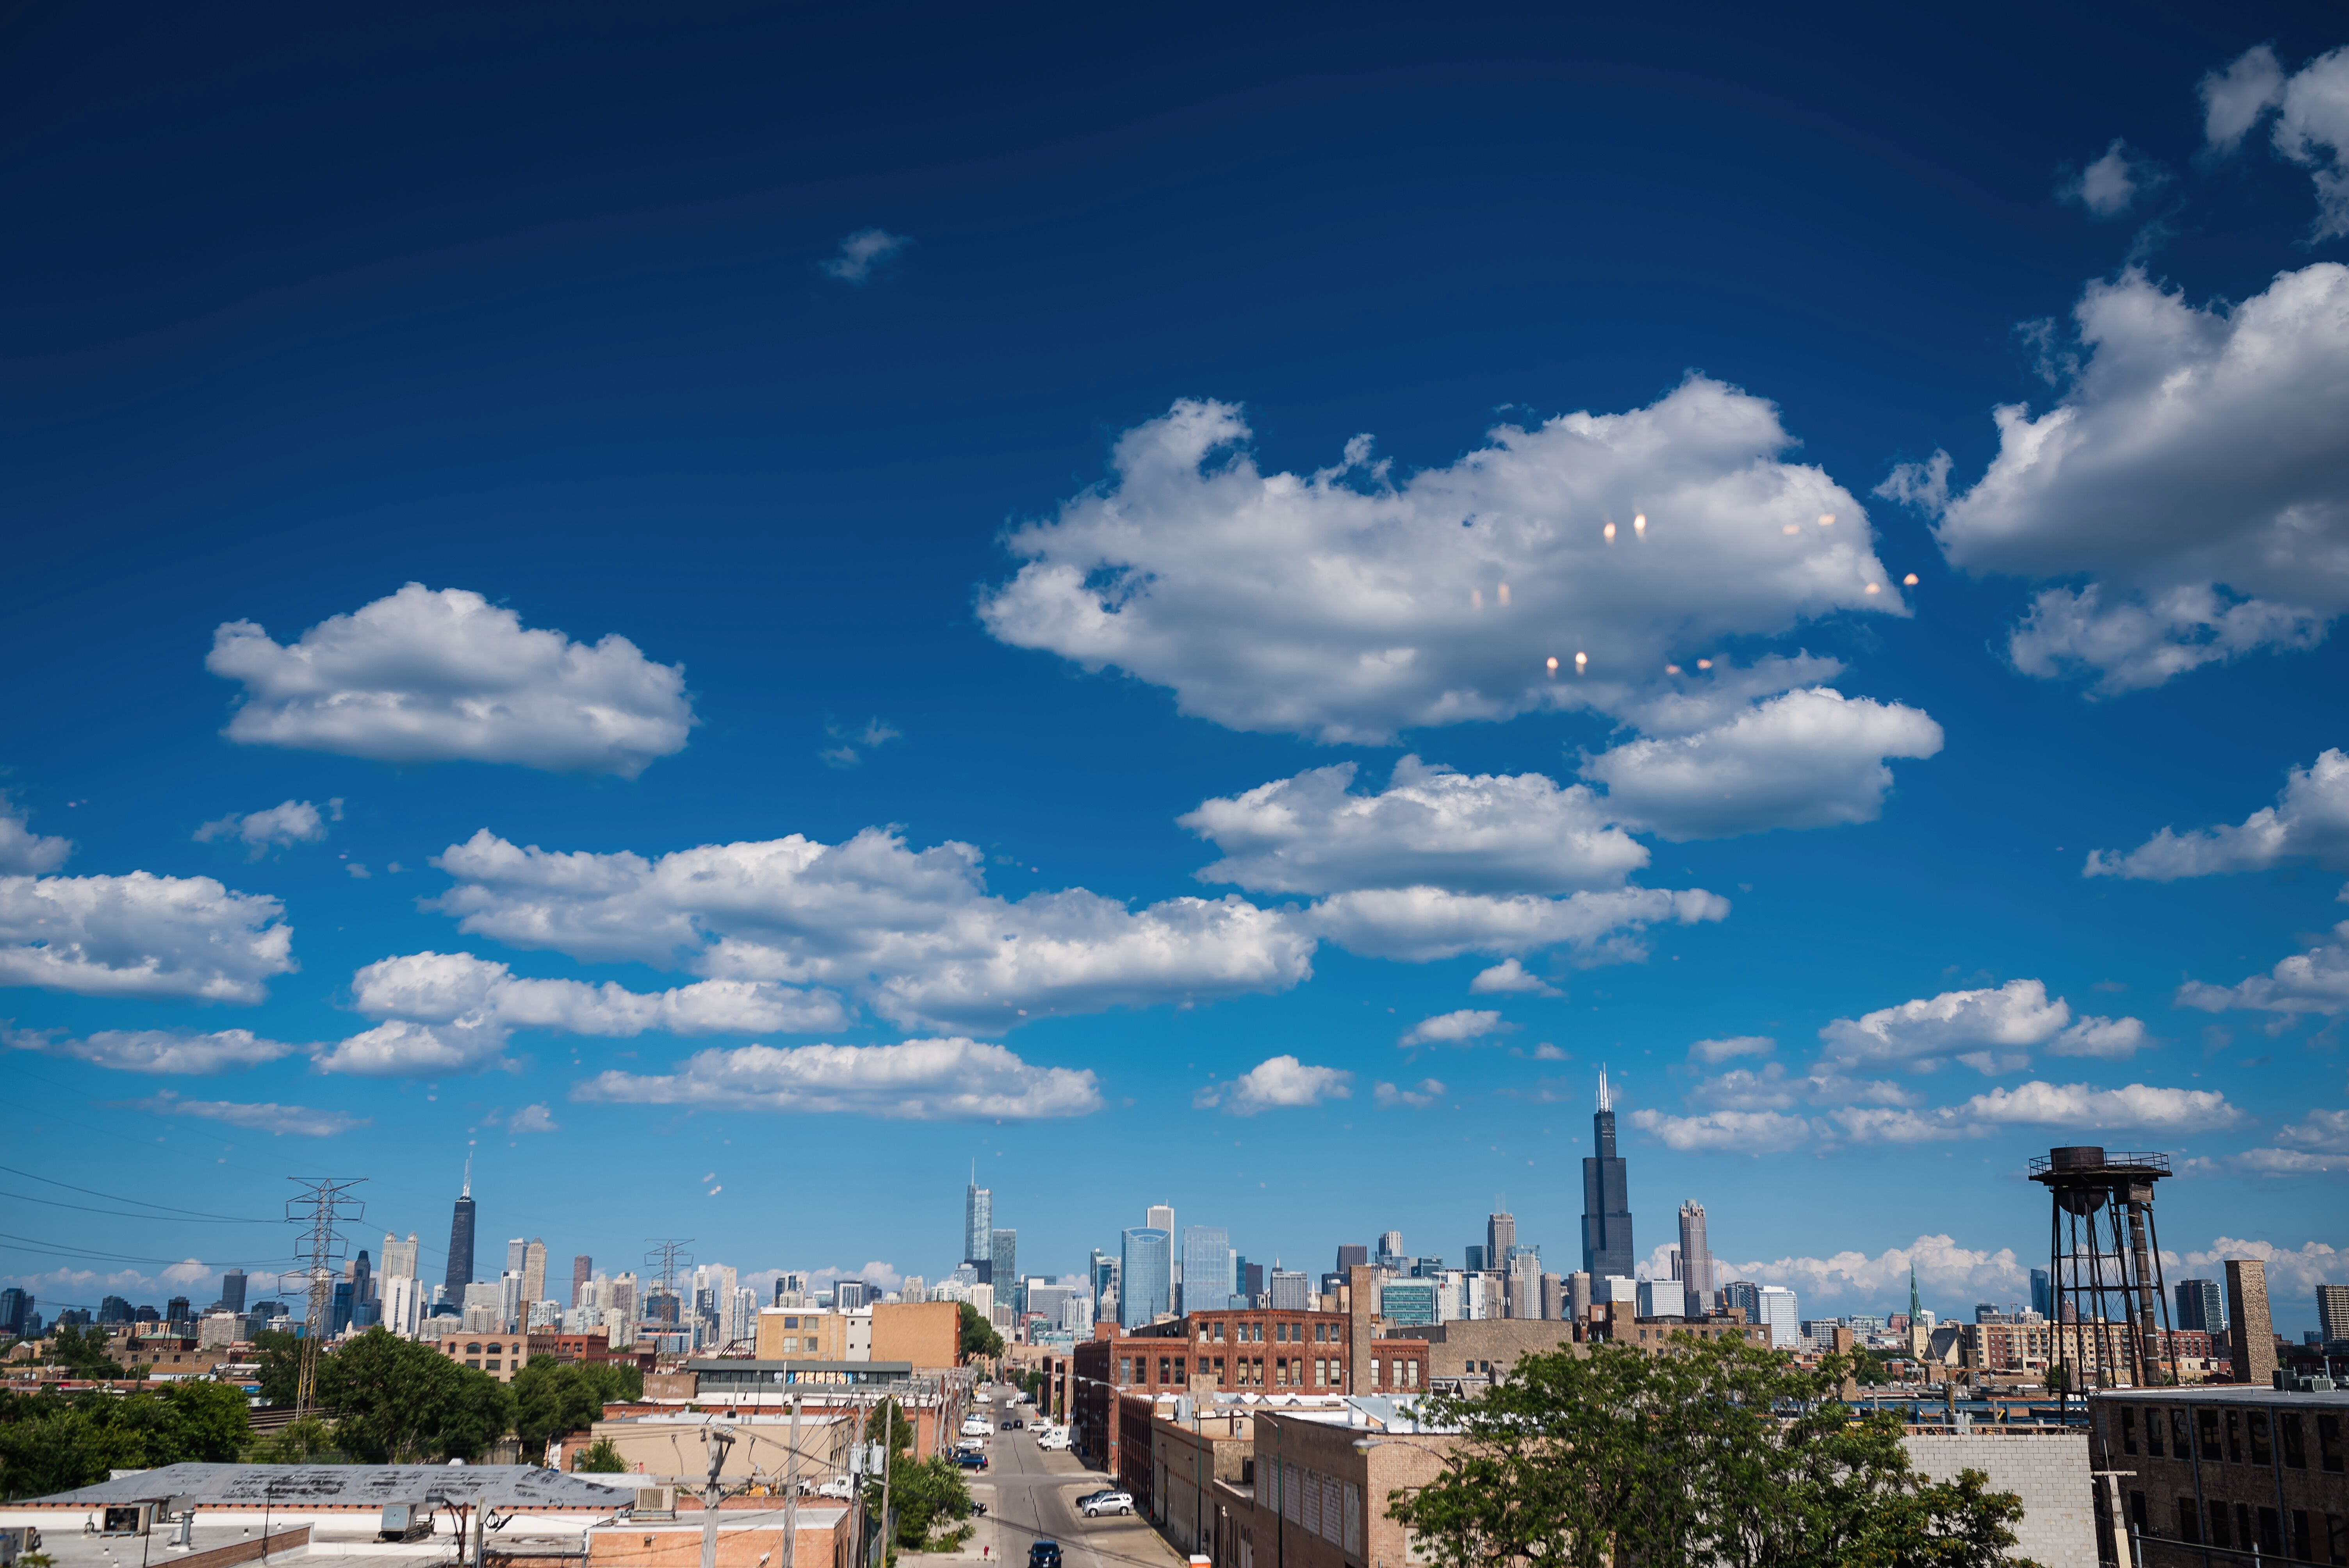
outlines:
[[686, 671], [625, 636], [526, 631], [467, 589], [411, 582], [291, 646], [226, 622], [204, 669], [244, 683], [226, 735], [385, 763], [521, 763], [637, 777], [693, 728]]

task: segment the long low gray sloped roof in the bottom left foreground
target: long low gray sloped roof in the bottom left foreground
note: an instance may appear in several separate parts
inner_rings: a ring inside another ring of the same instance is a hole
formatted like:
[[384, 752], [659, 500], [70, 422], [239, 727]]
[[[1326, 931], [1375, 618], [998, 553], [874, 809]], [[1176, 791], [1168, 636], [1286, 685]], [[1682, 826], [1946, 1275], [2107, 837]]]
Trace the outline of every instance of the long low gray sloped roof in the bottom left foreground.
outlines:
[[[162, 1465], [35, 1505], [89, 1507], [195, 1498], [195, 1507], [383, 1507], [385, 1502], [491, 1502], [496, 1507], [613, 1509], [637, 1500], [637, 1481], [604, 1483], [536, 1465]], [[19, 1505], [21, 1507], [21, 1505]]]

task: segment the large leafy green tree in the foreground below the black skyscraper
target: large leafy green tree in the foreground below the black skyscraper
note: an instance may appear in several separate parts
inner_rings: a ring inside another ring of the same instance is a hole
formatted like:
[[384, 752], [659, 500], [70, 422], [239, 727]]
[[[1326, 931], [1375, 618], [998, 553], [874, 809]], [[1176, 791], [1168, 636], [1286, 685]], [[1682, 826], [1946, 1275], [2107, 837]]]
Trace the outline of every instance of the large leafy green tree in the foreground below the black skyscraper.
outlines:
[[1665, 1354], [1593, 1345], [1522, 1357], [1489, 1390], [1433, 1397], [1463, 1441], [1393, 1516], [1456, 1568], [1717, 1561], [1990, 1568], [2011, 1561], [2013, 1493], [1910, 1467], [1896, 1415], [1835, 1401], [1849, 1357], [1816, 1371], [1743, 1340]]

